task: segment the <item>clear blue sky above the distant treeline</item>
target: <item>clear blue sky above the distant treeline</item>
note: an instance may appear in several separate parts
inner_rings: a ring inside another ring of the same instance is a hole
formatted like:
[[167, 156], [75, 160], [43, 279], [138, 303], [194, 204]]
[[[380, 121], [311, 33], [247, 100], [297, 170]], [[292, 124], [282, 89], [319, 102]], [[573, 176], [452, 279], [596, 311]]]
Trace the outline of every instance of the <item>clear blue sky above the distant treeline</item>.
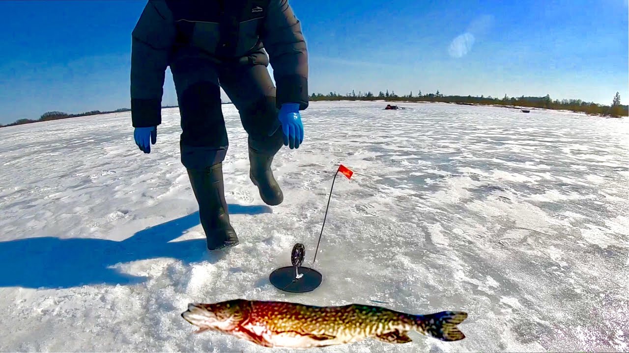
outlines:
[[[0, 123], [129, 107], [146, 1], [0, 1]], [[310, 92], [629, 101], [628, 0], [293, 0]], [[226, 97], [225, 97], [226, 98]], [[170, 72], [164, 104], [175, 104]]]

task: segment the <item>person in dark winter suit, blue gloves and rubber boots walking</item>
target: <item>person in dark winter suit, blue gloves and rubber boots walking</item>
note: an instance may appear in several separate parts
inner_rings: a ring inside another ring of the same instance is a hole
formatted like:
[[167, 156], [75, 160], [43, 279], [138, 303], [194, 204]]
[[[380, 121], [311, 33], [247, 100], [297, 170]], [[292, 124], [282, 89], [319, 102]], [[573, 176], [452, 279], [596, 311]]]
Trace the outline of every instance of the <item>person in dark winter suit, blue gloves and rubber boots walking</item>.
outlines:
[[138, 148], [150, 153], [157, 141], [170, 67], [181, 115], [181, 163], [208, 249], [236, 246], [223, 186], [228, 139], [220, 87], [248, 134], [250, 180], [265, 204], [281, 204], [272, 161], [282, 144], [294, 149], [303, 143], [300, 111], [308, 107], [301, 22], [287, 0], [148, 0], [131, 38], [131, 121]]

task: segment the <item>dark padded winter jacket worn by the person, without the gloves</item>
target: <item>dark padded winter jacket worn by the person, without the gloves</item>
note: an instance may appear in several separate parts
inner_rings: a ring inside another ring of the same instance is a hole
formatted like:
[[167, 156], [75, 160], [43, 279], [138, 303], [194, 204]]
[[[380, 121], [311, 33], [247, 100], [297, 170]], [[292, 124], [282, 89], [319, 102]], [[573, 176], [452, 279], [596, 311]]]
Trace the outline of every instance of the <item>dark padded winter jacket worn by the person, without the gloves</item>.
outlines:
[[308, 107], [306, 42], [287, 0], [148, 0], [131, 38], [134, 127], [161, 123], [165, 70], [193, 52], [216, 63], [270, 59], [277, 107]]

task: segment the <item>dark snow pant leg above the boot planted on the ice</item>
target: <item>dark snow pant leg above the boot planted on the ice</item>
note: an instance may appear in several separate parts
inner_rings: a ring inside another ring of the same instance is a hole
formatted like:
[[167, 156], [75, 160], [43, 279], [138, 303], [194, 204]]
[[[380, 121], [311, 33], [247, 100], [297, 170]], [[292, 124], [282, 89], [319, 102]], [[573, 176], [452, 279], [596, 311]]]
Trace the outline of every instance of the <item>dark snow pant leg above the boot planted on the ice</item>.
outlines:
[[214, 63], [189, 57], [170, 65], [181, 114], [181, 162], [188, 169], [225, 160], [229, 146]]

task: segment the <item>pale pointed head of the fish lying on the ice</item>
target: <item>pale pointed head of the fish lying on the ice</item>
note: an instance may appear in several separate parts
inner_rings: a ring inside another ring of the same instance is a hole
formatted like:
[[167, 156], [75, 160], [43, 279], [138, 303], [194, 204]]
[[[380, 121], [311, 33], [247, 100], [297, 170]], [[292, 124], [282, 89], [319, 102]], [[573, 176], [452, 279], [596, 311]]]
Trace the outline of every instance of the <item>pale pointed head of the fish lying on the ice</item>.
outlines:
[[245, 318], [246, 310], [242, 300], [221, 301], [220, 303], [190, 303], [188, 310], [181, 313], [192, 325], [201, 330], [233, 330]]

